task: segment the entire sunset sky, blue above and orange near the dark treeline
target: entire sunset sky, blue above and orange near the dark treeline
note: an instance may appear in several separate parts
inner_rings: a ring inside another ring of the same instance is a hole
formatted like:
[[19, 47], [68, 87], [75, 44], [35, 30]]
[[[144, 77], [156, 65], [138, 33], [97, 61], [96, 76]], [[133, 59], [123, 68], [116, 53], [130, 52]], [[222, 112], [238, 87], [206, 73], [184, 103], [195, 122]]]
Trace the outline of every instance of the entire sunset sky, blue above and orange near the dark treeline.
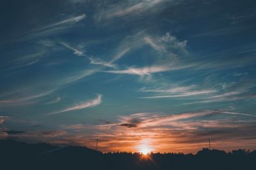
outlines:
[[1, 1], [0, 139], [256, 150], [256, 3]]

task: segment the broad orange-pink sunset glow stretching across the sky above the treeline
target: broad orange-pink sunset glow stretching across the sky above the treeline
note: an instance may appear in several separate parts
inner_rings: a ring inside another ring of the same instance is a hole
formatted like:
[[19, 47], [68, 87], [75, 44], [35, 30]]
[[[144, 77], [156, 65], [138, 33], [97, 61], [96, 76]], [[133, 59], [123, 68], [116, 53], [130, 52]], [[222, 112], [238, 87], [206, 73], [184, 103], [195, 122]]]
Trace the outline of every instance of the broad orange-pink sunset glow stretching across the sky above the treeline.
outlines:
[[[12, 136], [23, 139], [22, 141], [25, 142], [28, 140], [32, 143], [45, 142], [56, 145], [85, 146], [92, 149], [96, 149], [95, 139], [98, 139], [98, 150], [104, 153], [125, 151], [141, 153], [141, 155], [151, 152], [197, 153], [202, 148], [209, 147], [209, 137], [212, 139], [212, 149], [256, 150], [255, 138], [246, 138], [248, 128], [245, 123], [248, 121], [241, 123], [240, 120], [190, 120], [190, 118], [209, 114], [212, 116], [215, 112], [175, 115], [138, 113], [122, 116], [120, 123], [63, 125], [60, 130], [49, 132], [36, 130], [12, 135], [0, 132], [0, 137], [4, 139]], [[130, 127], [132, 123], [134, 126]], [[231, 132], [230, 129], [237, 131]], [[44, 140], [38, 141], [39, 137]]]

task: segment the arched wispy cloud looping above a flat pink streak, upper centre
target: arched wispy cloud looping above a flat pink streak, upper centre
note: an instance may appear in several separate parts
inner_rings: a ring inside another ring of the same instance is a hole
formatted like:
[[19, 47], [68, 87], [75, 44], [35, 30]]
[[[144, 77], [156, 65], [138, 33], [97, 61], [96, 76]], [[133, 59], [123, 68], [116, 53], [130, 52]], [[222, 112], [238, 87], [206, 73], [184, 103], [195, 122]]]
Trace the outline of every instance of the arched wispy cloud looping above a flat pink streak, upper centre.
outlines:
[[127, 36], [120, 43], [118, 52], [110, 63], [120, 59], [127, 52], [132, 52], [132, 50], [145, 47], [148, 44], [157, 52], [154, 57], [154, 63], [156, 64], [143, 67], [127, 66], [125, 70], [108, 70], [102, 72], [139, 75], [144, 80], [152, 80], [152, 73], [183, 70], [193, 67], [195, 64], [184, 63], [179, 59], [181, 53], [187, 54], [186, 43], [186, 40], [182, 42], [175, 36], [170, 35], [170, 33], [166, 33], [164, 36], [149, 36], [145, 31], [140, 31], [136, 35]]

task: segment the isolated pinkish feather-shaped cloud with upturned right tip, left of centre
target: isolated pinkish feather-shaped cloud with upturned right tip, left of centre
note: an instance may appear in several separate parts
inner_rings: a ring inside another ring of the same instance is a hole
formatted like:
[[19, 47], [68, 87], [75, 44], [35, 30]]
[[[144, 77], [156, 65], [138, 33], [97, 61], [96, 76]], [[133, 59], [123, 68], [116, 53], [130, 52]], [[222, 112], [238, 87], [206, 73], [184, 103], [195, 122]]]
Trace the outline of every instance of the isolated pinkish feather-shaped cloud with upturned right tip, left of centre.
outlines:
[[101, 103], [101, 98], [102, 98], [102, 95], [97, 95], [97, 96], [98, 96], [97, 98], [95, 98], [93, 100], [90, 100], [90, 101], [87, 101], [87, 102], [84, 102], [83, 104], [74, 105], [72, 107], [68, 107], [68, 108], [63, 109], [61, 111], [51, 112], [51, 113], [48, 113], [48, 114], [58, 114], [58, 113], [61, 113], [61, 112], [81, 110], [81, 109], [84, 109], [84, 108], [87, 108], [87, 107], [95, 107], [96, 105], [99, 105]]

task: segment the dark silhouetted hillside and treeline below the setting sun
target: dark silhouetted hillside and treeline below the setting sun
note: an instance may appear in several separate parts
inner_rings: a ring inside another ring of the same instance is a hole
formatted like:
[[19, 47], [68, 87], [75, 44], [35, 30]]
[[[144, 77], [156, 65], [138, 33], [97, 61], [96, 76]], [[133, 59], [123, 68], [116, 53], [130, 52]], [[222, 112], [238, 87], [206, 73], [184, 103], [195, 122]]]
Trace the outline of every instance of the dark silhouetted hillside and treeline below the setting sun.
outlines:
[[183, 153], [101, 153], [85, 147], [61, 148], [0, 140], [0, 169], [255, 169], [256, 151], [203, 149]]

